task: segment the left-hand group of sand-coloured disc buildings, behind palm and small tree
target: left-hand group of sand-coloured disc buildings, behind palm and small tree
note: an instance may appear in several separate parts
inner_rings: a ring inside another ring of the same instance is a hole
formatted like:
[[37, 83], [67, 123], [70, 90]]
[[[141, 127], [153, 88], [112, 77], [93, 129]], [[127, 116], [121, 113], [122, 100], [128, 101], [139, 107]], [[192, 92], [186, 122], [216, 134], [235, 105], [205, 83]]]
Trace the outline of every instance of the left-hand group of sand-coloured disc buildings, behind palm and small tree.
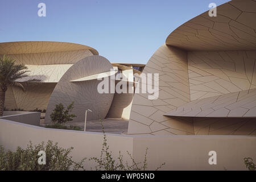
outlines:
[[[25, 92], [16, 86], [7, 89], [6, 110], [46, 109], [49, 123], [56, 104], [67, 106], [75, 102], [74, 122], [84, 121], [85, 109], [93, 110], [87, 115], [88, 121], [105, 117], [129, 120], [133, 93], [99, 94], [97, 74], [114, 69], [128, 77], [129, 73], [141, 73], [133, 67], [143, 68], [143, 64], [112, 64], [91, 47], [63, 42], [0, 43], [0, 56], [3, 55], [25, 64], [30, 71], [27, 77], [16, 80], [23, 84]], [[40, 82], [27, 82], [34, 78]], [[134, 85], [131, 87], [134, 90]]]

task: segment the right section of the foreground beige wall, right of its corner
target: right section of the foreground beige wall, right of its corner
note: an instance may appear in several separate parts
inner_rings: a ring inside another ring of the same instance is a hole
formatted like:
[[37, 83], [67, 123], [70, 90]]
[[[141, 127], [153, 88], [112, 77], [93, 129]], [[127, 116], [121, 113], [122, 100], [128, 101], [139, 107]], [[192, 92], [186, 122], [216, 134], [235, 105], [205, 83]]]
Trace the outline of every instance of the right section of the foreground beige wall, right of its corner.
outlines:
[[[243, 158], [256, 160], [256, 136], [135, 137], [135, 160], [142, 159], [146, 147], [150, 169], [166, 162], [164, 170], [245, 170]], [[209, 165], [209, 151], [217, 152], [216, 165]]]

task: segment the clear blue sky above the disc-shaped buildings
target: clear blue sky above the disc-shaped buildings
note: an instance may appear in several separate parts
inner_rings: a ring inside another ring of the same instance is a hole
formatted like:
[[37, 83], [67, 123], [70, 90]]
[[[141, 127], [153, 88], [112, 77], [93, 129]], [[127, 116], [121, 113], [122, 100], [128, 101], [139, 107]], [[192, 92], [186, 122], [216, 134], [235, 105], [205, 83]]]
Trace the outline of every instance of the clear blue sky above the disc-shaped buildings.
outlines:
[[[46, 4], [46, 17], [38, 4]], [[146, 64], [167, 36], [228, 0], [1, 0], [0, 42], [57, 41], [97, 49], [113, 63]]]

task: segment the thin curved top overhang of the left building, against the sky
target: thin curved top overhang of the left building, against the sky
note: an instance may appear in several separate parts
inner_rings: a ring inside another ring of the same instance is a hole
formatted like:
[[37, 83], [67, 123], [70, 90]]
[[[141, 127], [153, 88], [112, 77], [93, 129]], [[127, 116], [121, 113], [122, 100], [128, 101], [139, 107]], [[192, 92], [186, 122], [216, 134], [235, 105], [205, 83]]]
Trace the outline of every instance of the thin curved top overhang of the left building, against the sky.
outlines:
[[79, 51], [85, 49], [89, 49], [93, 55], [98, 55], [98, 51], [92, 47], [67, 42], [27, 41], [0, 43], [0, 55]]

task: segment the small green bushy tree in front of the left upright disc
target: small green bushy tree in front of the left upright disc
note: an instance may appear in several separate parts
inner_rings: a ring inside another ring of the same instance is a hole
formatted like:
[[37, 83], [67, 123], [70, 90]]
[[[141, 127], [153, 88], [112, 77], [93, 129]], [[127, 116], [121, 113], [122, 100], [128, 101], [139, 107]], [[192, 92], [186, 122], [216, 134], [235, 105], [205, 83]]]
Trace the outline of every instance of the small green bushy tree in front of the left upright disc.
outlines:
[[64, 108], [64, 105], [60, 103], [56, 105], [55, 109], [52, 111], [50, 117], [53, 123], [63, 124], [68, 121], [73, 121], [72, 118], [75, 118], [75, 114], [69, 114], [74, 108], [74, 102], [72, 102], [67, 109]]

